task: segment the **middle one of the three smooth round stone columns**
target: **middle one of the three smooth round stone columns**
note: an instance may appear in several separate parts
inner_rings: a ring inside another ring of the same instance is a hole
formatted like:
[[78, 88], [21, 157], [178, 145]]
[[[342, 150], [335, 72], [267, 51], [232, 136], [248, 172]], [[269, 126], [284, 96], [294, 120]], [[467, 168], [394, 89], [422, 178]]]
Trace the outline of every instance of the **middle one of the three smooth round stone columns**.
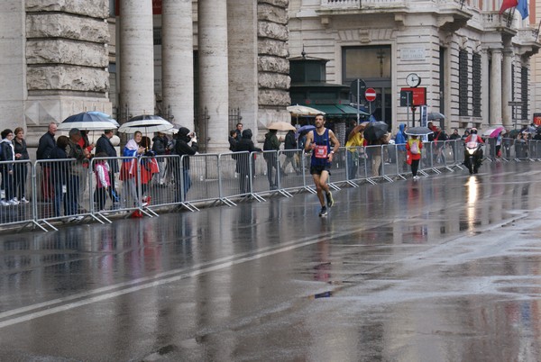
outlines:
[[[161, 90], [163, 113], [194, 129], [194, 41], [191, 0], [162, 0]], [[166, 117], [167, 118], [167, 117]]]

